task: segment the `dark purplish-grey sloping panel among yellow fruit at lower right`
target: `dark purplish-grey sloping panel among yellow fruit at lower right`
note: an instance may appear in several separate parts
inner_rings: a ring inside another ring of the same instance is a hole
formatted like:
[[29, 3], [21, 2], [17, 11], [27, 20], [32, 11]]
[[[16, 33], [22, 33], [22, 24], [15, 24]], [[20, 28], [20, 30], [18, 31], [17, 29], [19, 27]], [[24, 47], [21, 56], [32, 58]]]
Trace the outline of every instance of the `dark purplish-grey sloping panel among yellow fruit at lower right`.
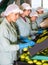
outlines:
[[30, 52], [30, 56], [34, 56], [35, 54], [37, 54], [37, 52], [41, 52], [46, 48], [48, 48], [48, 38], [42, 43], [35, 44], [35, 46], [29, 48], [28, 51]]

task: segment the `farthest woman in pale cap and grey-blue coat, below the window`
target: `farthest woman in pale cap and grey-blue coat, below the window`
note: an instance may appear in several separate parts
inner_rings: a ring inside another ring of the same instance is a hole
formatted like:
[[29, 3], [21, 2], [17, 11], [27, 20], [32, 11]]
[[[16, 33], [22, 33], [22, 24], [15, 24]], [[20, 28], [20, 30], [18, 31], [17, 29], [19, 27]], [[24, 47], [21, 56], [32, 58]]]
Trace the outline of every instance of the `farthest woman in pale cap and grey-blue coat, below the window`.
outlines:
[[38, 13], [37, 24], [40, 27], [40, 23], [42, 23], [42, 21], [48, 18], [48, 13], [44, 12], [44, 9], [42, 7], [38, 7], [36, 9], [36, 12]]

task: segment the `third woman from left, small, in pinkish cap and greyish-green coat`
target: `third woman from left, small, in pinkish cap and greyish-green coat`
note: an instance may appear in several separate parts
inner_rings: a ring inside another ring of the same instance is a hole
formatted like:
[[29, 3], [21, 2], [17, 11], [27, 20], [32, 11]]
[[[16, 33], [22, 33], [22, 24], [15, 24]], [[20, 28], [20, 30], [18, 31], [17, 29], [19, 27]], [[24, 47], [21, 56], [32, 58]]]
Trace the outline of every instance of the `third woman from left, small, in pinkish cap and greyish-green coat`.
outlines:
[[31, 12], [30, 13], [30, 20], [31, 20], [32, 30], [37, 30], [38, 29], [38, 24], [36, 22], [37, 18], [38, 18], [37, 12]]

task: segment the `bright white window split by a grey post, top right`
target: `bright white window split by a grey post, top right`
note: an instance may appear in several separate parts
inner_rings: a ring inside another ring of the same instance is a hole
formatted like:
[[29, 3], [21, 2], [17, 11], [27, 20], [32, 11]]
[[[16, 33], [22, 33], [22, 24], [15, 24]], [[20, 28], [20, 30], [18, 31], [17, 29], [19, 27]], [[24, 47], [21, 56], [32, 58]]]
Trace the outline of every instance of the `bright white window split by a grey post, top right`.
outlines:
[[48, 0], [30, 0], [32, 8], [43, 7], [48, 9]]

